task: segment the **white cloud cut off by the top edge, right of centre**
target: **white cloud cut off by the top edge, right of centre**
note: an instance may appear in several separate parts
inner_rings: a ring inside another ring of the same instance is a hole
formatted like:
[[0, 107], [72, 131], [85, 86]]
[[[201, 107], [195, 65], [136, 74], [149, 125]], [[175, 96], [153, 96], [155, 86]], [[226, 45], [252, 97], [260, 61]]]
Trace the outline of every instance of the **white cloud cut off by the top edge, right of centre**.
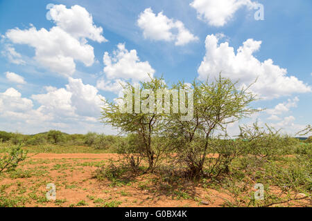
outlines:
[[224, 26], [237, 10], [243, 6], [251, 10], [255, 5], [250, 0], [194, 0], [190, 3], [196, 9], [198, 19], [210, 26]]

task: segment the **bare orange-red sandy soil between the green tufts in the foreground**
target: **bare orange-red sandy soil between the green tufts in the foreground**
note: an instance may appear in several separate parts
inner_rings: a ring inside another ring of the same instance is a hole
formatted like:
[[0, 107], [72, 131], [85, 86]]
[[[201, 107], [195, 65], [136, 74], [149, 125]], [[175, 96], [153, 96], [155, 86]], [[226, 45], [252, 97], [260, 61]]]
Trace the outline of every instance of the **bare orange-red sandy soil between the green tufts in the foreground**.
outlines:
[[[112, 200], [119, 201], [119, 206], [222, 206], [225, 200], [233, 200], [229, 193], [225, 191], [216, 191], [214, 189], [204, 189], [200, 186], [192, 186], [191, 197], [193, 199], [173, 199], [171, 195], [166, 195], [163, 191], [156, 191], [153, 186], [150, 189], [139, 188], [140, 184], [150, 184], [150, 179], [153, 175], [141, 175], [136, 177], [136, 182], [131, 185], [123, 185], [119, 187], [111, 187], [110, 181], [99, 181], [92, 178], [92, 173], [98, 169], [96, 166], [81, 166], [84, 162], [101, 162], [105, 161], [108, 164], [109, 159], [118, 159], [116, 154], [92, 154], [92, 153], [40, 153], [28, 158], [19, 169], [43, 169], [46, 171], [44, 175], [32, 175], [26, 178], [0, 178], [0, 186], [3, 184], [12, 184], [5, 191], [12, 193], [21, 186], [26, 188], [21, 195], [27, 196], [28, 193], [35, 190], [37, 195], [41, 197], [45, 195], [46, 184], [55, 183], [57, 200], [66, 200], [62, 204], [55, 202], [37, 202], [37, 200], [28, 200], [24, 206], [69, 206], [77, 204], [81, 200], [87, 202], [87, 206], [103, 206], [103, 203], [95, 203], [94, 200], [101, 198], [103, 202], [111, 202]], [[35, 164], [28, 164], [35, 162]], [[55, 165], [67, 165], [64, 169], [55, 169]], [[68, 168], [69, 167], [69, 168]], [[54, 169], [53, 169], [54, 168]], [[51, 170], [52, 169], [52, 170]], [[19, 186], [17, 182], [21, 182]], [[71, 188], [68, 186], [74, 185]], [[15, 195], [19, 195], [18, 191]], [[89, 196], [94, 197], [90, 199]], [[196, 199], [196, 200], [194, 200]], [[205, 205], [200, 202], [205, 201]], [[208, 203], [206, 205], [206, 203]]]

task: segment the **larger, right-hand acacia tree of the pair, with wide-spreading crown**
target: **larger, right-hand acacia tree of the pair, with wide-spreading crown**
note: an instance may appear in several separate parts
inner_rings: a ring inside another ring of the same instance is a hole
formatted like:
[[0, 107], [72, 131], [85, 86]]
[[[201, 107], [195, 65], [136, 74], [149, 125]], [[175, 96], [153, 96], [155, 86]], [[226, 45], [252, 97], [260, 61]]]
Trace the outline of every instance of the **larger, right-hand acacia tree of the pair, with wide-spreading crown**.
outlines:
[[[226, 131], [227, 124], [259, 111], [249, 106], [256, 99], [248, 92], [249, 87], [239, 89], [236, 85], [237, 82], [221, 75], [211, 83], [208, 80], [193, 81], [193, 119], [182, 121], [181, 113], [170, 115], [167, 119], [167, 133], [176, 137], [173, 145], [177, 149], [177, 160], [186, 164], [192, 177], [204, 175], [203, 169], [209, 151], [219, 151], [218, 157], [225, 159], [219, 159], [218, 162], [227, 164], [226, 151], [223, 148], [212, 148], [216, 146], [211, 144], [214, 131]], [[188, 86], [179, 82], [175, 87]], [[209, 158], [211, 160], [214, 159]]]

